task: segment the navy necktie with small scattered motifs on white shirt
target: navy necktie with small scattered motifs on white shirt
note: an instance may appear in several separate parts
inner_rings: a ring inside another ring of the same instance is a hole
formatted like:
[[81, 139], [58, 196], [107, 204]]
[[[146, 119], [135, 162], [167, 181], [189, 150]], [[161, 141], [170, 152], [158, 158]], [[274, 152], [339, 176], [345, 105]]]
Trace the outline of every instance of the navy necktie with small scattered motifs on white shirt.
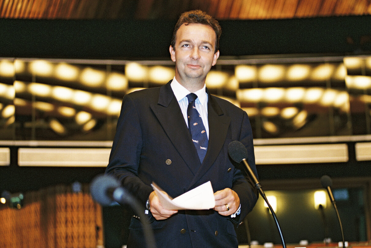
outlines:
[[188, 128], [191, 132], [192, 141], [194, 146], [196, 147], [198, 157], [200, 158], [200, 162], [205, 158], [207, 152], [207, 145], [209, 140], [207, 139], [207, 133], [202, 122], [202, 118], [196, 109], [196, 98], [197, 95], [194, 93], [189, 93], [187, 95], [188, 98], [188, 108], [187, 108], [187, 116], [188, 116]]

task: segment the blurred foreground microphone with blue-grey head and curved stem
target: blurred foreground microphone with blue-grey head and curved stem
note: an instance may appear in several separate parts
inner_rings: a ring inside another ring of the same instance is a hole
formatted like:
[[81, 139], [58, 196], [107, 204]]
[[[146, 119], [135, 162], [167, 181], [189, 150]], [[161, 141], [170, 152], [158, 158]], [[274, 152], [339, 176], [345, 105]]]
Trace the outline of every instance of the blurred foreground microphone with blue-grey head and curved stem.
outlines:
[[153, 230], [149, 224], [148, 217], [144, 214], [142, 204], [121, 186], [121, 183], [111, 175], [98, 175], [90, 184], [92, 198], [102, 206], [109, 206], [112, 203], [130, 204], [143, 224], [144, 238], [147, 247], [156, 248]]

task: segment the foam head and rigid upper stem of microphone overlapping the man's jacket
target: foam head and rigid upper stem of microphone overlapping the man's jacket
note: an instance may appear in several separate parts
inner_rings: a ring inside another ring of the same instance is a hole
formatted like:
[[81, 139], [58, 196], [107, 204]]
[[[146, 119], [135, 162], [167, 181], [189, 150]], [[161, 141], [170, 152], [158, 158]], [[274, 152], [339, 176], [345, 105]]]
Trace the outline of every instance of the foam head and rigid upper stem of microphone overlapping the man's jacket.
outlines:
[[228, 145], [228, 153], [229, 156], [232, 158], [232, 160], [236, 163], [241, 163], [245, 165], [245, 171], [247, 175], [249, 176], [251, 182], [253, 183], [253, 186], [260, 191], [262, 186], [259, 183], [259, 180], [257, 179], [255, 173], [251, 169], [249, 163], [247, 162], [247, 149], [246, 147], [239, 141], [234, 140], [229, 143]]

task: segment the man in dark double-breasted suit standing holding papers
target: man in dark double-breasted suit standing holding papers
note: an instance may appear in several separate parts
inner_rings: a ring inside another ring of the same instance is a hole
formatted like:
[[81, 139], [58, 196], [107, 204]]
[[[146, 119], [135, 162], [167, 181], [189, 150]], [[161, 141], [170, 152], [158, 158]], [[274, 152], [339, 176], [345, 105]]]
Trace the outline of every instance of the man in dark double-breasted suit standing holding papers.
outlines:
[[[242, 167], [228, 156], [229, 143], [239, 140], [256, 173], [247, 114], [205, 87], [219, 57], [220, 34], [219, 23], [206, 13], [183, 13], [169, 48], [174, 79], [125, 95], [122, 102], [106, 173], [147, 206], [157, 247], [237, 247], [233, 223], [239, 224], [257, 200]], [[188, 112], [194, 109], [197, 115]], [[194, 126], [201, 127], [202, 137], [194, 138]], [[202, 211], [165, 209], [152, 181], [173, 198], [210, 181], [216, 205]], [[141, 222], [133, 217], [129, 229], [128, 247], [145, 247]]]

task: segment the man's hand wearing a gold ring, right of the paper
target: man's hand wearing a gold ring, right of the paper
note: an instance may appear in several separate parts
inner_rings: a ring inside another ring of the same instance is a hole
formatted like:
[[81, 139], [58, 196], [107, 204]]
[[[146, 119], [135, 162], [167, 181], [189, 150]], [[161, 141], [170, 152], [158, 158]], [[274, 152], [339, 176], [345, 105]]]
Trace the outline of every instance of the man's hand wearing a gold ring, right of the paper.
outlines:
[[[237, 212], [240, 206], [240, 198], [232, 189], [226, 188], [214, 193], [215, 207], [220, 215], [228, 216]], [[229, 210], [228, 210], [229, 207]]]

